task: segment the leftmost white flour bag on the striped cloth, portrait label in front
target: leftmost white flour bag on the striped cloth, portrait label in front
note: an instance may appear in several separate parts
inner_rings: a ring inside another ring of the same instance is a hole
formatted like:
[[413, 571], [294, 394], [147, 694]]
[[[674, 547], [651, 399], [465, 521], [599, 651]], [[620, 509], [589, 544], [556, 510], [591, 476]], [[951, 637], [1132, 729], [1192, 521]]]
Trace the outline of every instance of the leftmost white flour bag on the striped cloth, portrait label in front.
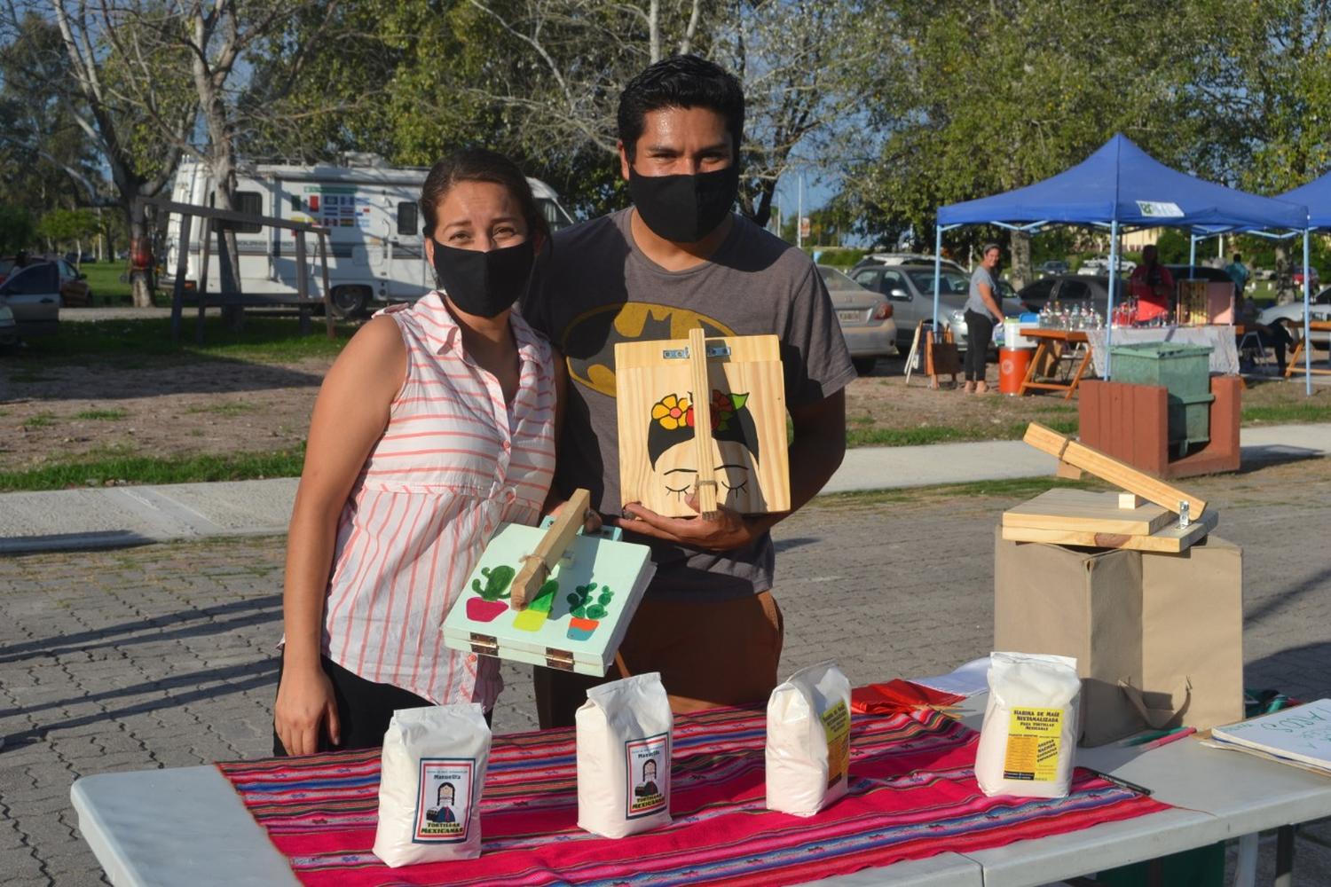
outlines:
[[383, 734], [374, 855], [397, 868], [480, 855], [490, 725], [480, 705], [393, 713]]

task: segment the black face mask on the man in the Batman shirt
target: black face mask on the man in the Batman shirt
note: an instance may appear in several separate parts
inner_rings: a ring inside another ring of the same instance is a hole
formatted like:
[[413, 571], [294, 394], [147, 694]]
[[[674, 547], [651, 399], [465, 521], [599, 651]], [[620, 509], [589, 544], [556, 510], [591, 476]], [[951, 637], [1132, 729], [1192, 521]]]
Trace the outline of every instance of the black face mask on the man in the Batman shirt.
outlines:
[[733, 164], [696, 176], [639, 176], [630, 165], [628, 193], [652, 234], [676, 243], [696, 243], [725, 221], [740, 191]]

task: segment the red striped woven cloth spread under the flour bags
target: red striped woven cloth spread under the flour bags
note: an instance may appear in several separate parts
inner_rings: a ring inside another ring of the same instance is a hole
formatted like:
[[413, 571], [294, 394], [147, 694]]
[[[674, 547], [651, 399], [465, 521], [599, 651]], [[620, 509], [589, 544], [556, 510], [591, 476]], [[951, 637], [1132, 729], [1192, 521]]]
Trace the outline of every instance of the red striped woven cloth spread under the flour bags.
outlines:
[[980, 734], [936, 711], [856, 715], [849, 794], [813, 818], [765, 810], [761, 709], [675, 721], [671, 813], [611, 840], [578, 828], [572, 730], [494, 739], [479, 859], [389, 868], [373, 855], [379, 751], [221, 763], [305, 884], [776, 887], [1166, 810], [1085, 771], [1058, 801], [986, 798]]

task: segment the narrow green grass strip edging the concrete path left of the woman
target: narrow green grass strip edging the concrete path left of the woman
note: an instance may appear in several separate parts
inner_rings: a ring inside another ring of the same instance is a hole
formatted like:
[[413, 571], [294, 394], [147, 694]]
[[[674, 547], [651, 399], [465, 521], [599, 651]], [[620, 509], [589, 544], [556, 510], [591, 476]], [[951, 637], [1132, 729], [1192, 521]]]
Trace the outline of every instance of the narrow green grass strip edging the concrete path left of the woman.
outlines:
[[186, 484], [214, 480], [295, 477], [305, 460], [301, 452], [241, 453], [153, 459], [121, 456], [73, 464], [44, 465], [32, 471], [0, 472], [0, 492], [68, 489], [106, 484]]

